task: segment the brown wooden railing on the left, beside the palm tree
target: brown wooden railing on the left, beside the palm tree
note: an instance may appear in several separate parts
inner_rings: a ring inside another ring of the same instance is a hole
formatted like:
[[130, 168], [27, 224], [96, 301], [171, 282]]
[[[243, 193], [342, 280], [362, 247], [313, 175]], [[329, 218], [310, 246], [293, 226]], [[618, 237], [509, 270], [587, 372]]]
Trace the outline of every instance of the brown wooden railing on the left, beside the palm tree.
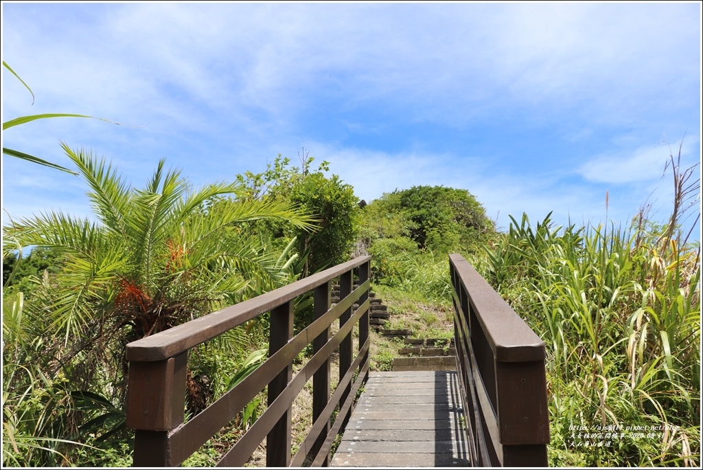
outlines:
[[[266, 466], [328, 464], [330, 447], [351, 414], [368, 378], [370, 257], [364, 256], [276, 291], [210, 313], [127, 345], [127, 426], [135, 429], [134, 466], [176, 466], [268, 386], [268, 408], [222, 457], [219, 466], [243, 466], [266, 438]], [[354, 289], [354, 277], [359, 287]], [[331, 284], [339, 279], [340, 302], [331, 307]], [[314, 321], [293, 336], [295, 299], [313, 292]], [[359, 307], [352, 312], [354, 303]], [[188, 350], [254, 317], [271, 312], [269, 358], [236, 387], [184, 423]], [[330, 326], [339, 319], [337, 333]], [[359, 326], [354, 354], [352, 331]], [[309, 343], [313, 355], [292, 374], [293, 360]], [[330, 396], [330, 355], [339, 351], [340, 380]], [[312, 426], [291, 452], [291, 405], [313, 381]], [[338, 410], [332, 422], [333, 413]]]

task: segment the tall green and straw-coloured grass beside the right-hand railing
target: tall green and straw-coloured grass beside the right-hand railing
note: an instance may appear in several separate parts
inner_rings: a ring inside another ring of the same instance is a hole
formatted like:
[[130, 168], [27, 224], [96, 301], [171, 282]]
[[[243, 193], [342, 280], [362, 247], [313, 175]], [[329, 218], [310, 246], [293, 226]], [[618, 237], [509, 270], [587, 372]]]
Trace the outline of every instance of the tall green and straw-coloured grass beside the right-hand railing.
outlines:
[[700, 462], [699, 242], [645, 221], [548, 215], [533, 230], [524, 216], [489, 253], [491, 281], [547, 343], [550, 464]]

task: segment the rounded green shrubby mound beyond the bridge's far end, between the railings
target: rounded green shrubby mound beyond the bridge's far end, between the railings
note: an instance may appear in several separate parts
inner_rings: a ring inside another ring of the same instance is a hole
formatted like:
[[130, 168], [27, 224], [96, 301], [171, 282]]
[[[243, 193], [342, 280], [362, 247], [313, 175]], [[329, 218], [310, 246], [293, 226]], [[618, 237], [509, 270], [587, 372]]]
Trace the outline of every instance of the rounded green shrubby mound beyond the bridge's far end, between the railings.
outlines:
[[361, 245], [373, 255], [377, 283], [447, 303], [446, 255], [483, 253], [493, 221], [465, 189], [414, 186], [384, 193], [363, 208]]

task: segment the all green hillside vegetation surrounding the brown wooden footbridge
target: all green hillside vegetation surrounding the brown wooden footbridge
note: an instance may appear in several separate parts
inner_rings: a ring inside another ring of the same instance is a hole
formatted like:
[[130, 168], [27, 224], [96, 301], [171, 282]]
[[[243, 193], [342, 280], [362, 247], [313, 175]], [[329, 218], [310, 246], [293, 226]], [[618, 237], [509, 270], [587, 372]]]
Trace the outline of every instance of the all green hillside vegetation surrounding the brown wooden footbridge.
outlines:
[[[451, 336], [455, 252], [547, 345], [550, 464], [700, 462], [700, 250], [689, 240], [699, 180], [673, 155], [676, 199], [664, 224], [645, 209], [625, 226], [523, 215], [503, 233], [465, 189], [415, 186], [359, 205], [352, 186], [304, 152], [299, 167], [279, 155], [265, 172], [193, 191], [164, 163], [134, 188], [105, 161], [65, 151], [97, 222], [56, 212], [3, 231], [5, 466], [131, 465], [127, 342], [354, 254], [373, 255], [374, 289], [396, 325]], [[296, 329], [310, 315], [298, 303]], [[193, 350], [188, 416], [257, 367], [267, 329], [264, 316]], [[393, 353], [376, 347], [373, 367], [387, 369]], [[186, 464], [217, 462], [265, 401]], [[610, 431], [599, 443], [574, 433], [607, 426], [648, 432]]]

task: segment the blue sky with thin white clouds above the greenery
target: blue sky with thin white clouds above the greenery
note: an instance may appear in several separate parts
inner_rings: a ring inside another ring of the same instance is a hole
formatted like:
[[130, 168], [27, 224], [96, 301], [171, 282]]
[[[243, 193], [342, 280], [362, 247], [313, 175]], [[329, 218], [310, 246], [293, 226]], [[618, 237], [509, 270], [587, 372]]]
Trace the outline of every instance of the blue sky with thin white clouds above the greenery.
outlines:
[[[3, 145], [134, 186], [158, 160], [193, 186], [302, 148], [372, 201], [463, 188], [508, 215], [664, 219], [670, 151], [701, 158], [701, 4], [2, 5]], [[90, 214], [77, 177], [3, 156], [3, 223]], [[699, 168], [697, 171], [699, 176]], [[700, 203], [700, 201], [697, 201]]]

